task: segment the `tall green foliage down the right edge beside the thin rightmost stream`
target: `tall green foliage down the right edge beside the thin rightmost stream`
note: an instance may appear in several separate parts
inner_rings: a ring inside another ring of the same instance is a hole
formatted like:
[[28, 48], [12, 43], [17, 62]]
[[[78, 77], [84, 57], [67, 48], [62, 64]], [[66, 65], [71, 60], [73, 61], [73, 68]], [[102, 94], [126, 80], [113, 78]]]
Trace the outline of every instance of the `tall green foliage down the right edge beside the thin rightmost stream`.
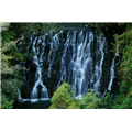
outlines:
[[127, 30], [120, 35], [114, 35], [122, 59], [118, 68], [119, 95], [112, 100], [112, 109], [132, 109], [132, 22], [125, 24]]

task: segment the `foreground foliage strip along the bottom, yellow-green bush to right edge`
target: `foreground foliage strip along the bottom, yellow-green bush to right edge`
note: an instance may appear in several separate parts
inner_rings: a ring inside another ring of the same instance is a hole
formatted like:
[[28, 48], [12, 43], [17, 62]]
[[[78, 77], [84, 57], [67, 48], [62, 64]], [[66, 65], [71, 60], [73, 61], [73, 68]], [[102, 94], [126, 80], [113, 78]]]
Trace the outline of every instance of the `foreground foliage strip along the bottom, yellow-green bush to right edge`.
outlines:
[[78, 99], [73, 98], [70, 85], [63, 82], [54, 92], [51, 101], [52, 105], [48, 109], [132, 109], [132, 87], [127, 97], [116, 95], [112, 99], [110, 92], [107, 91], [101, 99], [94, 89], [89, 89], [88, 94]]

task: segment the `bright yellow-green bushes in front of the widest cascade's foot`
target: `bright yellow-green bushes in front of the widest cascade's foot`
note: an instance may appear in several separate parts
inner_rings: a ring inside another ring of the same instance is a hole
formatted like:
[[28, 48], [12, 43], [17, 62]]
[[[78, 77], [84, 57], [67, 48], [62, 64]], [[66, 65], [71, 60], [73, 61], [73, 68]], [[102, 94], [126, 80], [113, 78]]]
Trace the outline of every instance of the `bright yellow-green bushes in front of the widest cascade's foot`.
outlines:
[[103, 108], [101, 99], [97, 97], [94, 90], [86, 94], [82, 99], [73, 97], [70, 85], [63, 82], [54, 92], [50, 109], [99, 109]]

